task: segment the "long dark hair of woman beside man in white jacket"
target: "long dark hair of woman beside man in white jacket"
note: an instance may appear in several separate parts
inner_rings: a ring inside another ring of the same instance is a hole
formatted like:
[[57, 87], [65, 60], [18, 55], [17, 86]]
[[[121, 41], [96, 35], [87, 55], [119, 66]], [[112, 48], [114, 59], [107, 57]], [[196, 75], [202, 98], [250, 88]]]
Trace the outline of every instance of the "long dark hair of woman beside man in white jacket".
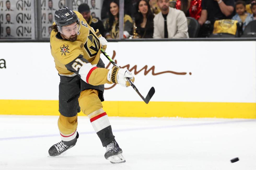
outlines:
[[143, 15], [141, 14], [141, 12], [139, 12], [139, 3], [141, 1], [145, 1], [147, 3], [147, 6], [148, 6], [148, 12], [147, 12], [147, 24], [146, 24], [146, 27], [148, 24], [154, 24], [153, 23], [153, 18], [154, 18], [154, 15], [152, 13], [152, 11], [150, 10], [150, 5], [149, 5], [149, 2], [148, 0], [139, 0], [136, 4], [136, 14], [135, 14], [135, 24], [137, 27], [140, 27], [141, 26], [141, 23], [143, 22]]

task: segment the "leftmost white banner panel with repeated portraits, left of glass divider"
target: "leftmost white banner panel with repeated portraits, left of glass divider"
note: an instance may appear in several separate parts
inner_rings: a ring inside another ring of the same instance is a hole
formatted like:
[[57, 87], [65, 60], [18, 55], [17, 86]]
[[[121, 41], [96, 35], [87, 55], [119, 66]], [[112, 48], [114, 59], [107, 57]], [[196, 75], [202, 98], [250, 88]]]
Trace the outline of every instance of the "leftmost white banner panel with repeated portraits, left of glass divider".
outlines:
[[1, 39], [34, 39], [34, 1], [0, 1]]

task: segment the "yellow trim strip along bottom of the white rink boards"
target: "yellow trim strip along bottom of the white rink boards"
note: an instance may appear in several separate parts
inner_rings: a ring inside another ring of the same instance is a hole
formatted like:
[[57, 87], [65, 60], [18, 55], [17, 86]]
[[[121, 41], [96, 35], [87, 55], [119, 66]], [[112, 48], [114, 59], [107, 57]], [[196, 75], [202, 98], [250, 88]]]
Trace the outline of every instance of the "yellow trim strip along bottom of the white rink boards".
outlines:
[[[256, 103], [105, 101], [109, 116], [256, 118]], [[59, 115], [58, 100], [0, 100], [0, 115]], [[78, 116], [84, 116], [82, 112]]]

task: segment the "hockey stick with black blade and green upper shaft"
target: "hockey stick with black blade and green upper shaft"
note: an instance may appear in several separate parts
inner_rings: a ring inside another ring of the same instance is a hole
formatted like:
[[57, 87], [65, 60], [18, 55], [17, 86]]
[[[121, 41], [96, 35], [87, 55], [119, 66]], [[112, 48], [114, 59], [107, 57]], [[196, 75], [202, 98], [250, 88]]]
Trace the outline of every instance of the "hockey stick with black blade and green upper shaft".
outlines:
[[[101, 52], [102, 54], [105, 55], [105, 57], [107, 57], [107, 59], [116, 67], [120, 68], [113, 60], [112, 58], [109, 57], [109, 55], [101, 48]], [[145, 103], [148, 104], [149, 100], [152, 98], [152, 96], [154, 95], [155, 93], [155, 88], [154, 87], [151, 87], [151, 89], [149, 90], [146, 98], [144, 98], [141, 93], [139, 92], [139, 90], [137, 89], [137, 87], [132, 83], [132, 81], [129, 79], [129, 78], [126, 78], [127, 81], [130, 83], [130, 85], [132, 86], [132, 88], [138, 93], [138, 95], [143, 99], [143, 101]]]

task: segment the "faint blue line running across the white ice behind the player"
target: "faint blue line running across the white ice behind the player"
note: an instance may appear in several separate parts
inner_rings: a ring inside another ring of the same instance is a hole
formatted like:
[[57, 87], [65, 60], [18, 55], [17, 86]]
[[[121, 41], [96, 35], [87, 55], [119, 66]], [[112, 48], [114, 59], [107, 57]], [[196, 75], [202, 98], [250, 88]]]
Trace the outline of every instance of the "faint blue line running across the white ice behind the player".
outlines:
[[[237, 121], [225, 121], [225, 122], [212, 122], [212, 123], [192, 123], [192, 124], [181, 124], [181, 125], [168, 125], [168, 126], [156, 126], [156, 127], [143, 127], [143, 128], [130, 128], [130, 129], [119, 129], [113, 130], [113, 132], [121, 131], [135, 131], [135, 130], [148, 130], [148, 129], [165, 129], [165, 128], [179, 128], [179, 127], [192, 127], [192, 126], [203, 126], [203, 125], [216, 125], [216, 124], [230, 124], [230, 123], [241, 123], [241, 122], [256, 122], [256, 119], [249, 120], [237, 120]], [[94, 134], [94, 131], [91, 132], [79, 132], [79, 134]], [[40, 138], [40, 137], [53, 137], [59, 136], [60, 134], [51, 134], [51, 135], [34, 135], [34, 136], [19, 136], [19, 137], [6, 137], [0, 138], [0, 141], [4, 140], [14, 140], [14, 139], [28, 139], [28, 138]]]

